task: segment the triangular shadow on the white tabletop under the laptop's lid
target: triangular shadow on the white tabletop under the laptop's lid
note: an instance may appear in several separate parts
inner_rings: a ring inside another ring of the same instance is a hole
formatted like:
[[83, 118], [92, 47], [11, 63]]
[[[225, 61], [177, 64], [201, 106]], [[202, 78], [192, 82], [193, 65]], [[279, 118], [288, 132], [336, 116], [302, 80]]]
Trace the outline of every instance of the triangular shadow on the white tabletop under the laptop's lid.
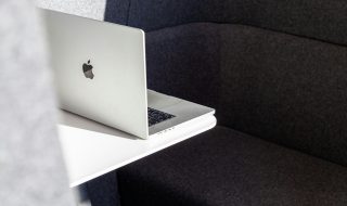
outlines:
[[57, 111], [57, 123], [60, 125], [68, 126], [68, 127], [74, 127], [78, 129], [85, 129], [93, 132], [99, 132], [99, 133], [104, 133], [104, 134], [110, 134], [110, 136], [115, 136], [117, 138], [126, 138], [126, 139], [131, 139], [131, 140], [139, 140], [139, 138], [126, 133], [124, 131], [117, 130], [115, 128], [105, 126], [103, 124], [97, 123], [94, 120], [88, 119], [86, 117], [73, 114], [67, 111], [59, 110]]

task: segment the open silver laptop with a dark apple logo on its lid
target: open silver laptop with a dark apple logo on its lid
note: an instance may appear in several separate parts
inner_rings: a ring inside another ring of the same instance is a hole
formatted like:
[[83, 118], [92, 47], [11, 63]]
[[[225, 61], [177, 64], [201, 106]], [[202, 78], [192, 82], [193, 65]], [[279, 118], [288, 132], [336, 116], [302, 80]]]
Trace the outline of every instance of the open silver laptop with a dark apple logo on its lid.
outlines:
[[141, 139], [216, 124], [214, 108], [146, 88], [143, 30], [40, 10], [62, 110]]

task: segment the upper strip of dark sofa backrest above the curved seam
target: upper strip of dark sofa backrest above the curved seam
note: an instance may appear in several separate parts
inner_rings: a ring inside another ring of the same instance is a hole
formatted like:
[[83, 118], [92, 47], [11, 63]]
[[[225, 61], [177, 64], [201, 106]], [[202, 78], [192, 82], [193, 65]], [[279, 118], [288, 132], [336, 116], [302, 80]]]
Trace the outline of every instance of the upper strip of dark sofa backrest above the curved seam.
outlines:
[[347, 2], [344, 0], [107, 0], [106, 21], [123, 24], [125, 12], [127, 25], [146, 31], [214, 22], [252, 25], [347, 44]]

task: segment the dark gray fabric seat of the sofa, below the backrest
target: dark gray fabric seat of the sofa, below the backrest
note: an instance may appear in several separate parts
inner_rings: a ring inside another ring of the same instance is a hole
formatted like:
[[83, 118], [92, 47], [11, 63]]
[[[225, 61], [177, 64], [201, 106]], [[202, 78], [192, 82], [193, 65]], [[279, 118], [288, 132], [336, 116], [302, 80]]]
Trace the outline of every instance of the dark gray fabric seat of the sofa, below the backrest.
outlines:
[[123, 206], [339, 206], [347, 169], [224, 127], [118, 171]]

